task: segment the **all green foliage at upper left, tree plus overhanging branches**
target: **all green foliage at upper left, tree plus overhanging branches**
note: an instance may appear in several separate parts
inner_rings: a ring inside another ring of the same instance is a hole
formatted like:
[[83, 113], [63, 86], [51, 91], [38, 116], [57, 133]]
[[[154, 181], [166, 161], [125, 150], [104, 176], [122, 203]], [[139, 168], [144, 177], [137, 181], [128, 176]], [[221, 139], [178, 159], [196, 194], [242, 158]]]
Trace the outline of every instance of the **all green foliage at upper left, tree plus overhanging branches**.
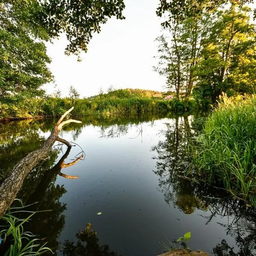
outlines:
[[65, 53], [79, 55], [109, 17], [124, 18], [124, 8], [122, 0], [1, 1], [0, 104], [9, 108], [44, 96], [41, 86], [53, 80], [45, 41], [64, 32]]

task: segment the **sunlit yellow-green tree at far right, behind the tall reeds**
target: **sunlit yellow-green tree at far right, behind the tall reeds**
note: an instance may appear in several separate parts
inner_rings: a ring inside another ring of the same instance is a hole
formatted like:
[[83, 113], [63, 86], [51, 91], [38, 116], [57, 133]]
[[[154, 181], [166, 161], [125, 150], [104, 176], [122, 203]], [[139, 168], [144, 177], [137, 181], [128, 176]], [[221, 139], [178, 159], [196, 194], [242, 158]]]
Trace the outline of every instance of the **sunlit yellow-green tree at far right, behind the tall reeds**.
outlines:
[[250, 9], [231, 6], [217, 17], [196, 67], [193, 95], [204, 103], [215, 102], [221, 92], [254, 93], [256, 87], [256, 31]]

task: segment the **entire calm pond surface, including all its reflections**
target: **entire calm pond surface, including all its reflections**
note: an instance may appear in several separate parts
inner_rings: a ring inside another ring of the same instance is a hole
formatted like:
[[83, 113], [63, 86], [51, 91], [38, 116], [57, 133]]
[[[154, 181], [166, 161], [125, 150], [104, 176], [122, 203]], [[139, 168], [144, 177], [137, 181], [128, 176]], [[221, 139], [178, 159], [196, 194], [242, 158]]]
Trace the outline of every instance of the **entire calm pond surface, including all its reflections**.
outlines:
[[[256, 255], [255, 210], [182, 177], [189, 165], [185, 147], [197, 132], [194, 119], [88, 118], [67, 126], [60, 137], [79, 146], [67, 151], [56, 143], [18, 195], [26, 204], [38, 202], [32, 210], [52, 209], [37, 213], [26, 229], [49, 241], [56, 255], [156, 256], [164, 252], [163, 244], [171, 246], [186, 232], [192, 234], [192, 250]], [[0, 176], [38, 148], [53, 124], [1, 125]], [[82, 154], [83, 159], [61, 169], [63, 160], [71, 163]]]

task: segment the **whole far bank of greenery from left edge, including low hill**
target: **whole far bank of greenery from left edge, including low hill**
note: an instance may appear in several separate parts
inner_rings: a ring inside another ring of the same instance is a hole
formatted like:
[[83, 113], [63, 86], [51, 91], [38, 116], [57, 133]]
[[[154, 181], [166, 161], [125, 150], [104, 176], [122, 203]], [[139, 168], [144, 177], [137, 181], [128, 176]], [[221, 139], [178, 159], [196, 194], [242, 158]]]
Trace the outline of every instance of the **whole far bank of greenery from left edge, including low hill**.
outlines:
[[[116, 93], [115, 93], [116, 92]], [[0, 118], [29, 118], [34, 116], [60, 116], [74, 106], [74, 116], [127, 116], [138, 113], [184, 112], [193, 108], [193, 101], [177, 99], [164, 100], [117, 90], [91, 97], [90, 99], [71, 99], [46, 97], [26, 101], [0, 103]]]

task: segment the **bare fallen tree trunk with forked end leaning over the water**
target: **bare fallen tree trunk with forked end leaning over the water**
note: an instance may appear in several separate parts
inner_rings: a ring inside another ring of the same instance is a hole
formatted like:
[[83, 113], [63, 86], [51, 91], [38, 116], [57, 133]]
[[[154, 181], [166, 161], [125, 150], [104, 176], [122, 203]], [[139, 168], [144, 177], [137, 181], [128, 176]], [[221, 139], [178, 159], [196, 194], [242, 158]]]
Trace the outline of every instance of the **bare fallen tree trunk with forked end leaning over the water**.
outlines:
[[[66, 125], [70, 122], [81, 123], [80, 121], [69, 119], [63, 121], [65, 116], [73, 110], [73, 107], [65, 112], [61, 118], [56, 123], [55, 127], [52, 129], [50, 136], [41, 146], [41, 148], [32, 151], [26, 157], [21, 159], [9, 172], [8, 175], [2, 180], [0, 184], [0, 218], [4, 215], [6, 210], [10, 207], [12, 202], [17, 196], [17, 193], [20, 191], [23, 181], [29, 172], [41, 161], [48, 157], [49, 151], [52, 148], [52, 145], [55, 141], [65, 143], [67, 146], [71, 146], [66, 140], [63, 140], [58, 137], [58, 132], [61, 130], [63, 125]], [[62, 122], [63, 121], [63, 122]]]

